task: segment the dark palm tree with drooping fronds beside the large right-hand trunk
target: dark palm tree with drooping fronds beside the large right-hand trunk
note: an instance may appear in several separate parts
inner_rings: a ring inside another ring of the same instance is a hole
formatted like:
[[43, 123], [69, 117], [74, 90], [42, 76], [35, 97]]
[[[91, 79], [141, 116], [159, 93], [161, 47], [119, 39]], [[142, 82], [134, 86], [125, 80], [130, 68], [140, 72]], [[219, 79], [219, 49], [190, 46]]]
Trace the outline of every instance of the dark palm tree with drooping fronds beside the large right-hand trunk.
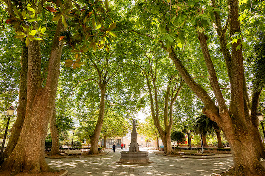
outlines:
[[217, 148], [224, 148], [221, 141], [221, 129], [216, 122], [210, 120], [206, 115], [202, 114], [197, 117], [195, 121], [195, 133], [201, 134], [204, 146], [207, 146], [206, 134], [214, 135], [214, 131], [217, 135]]

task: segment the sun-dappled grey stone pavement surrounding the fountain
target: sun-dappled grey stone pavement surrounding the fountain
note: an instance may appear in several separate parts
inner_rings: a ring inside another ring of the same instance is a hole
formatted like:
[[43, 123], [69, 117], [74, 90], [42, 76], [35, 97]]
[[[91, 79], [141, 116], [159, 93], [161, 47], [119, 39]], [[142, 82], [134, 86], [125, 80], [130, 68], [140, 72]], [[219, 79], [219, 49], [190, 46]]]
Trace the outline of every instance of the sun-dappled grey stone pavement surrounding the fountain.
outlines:
[[117, 164], [121, 149], [95, 157], [61, 158], [46, 161], [54, 169], [67, 169], [68, 176], [211, 176], [212, 173], [229, 169], [230, 158], [193, 159], [177, 158], [149, 153], [152, 164]]

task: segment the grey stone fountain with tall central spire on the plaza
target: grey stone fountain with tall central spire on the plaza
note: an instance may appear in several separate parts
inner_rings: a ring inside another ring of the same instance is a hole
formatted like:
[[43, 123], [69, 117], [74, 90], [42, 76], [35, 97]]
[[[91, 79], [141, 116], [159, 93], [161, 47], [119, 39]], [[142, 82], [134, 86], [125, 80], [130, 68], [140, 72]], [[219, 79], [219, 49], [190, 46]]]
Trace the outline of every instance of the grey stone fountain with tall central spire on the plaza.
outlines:
[[117, 163], [153, 163], [153, 161], [149, 161], [148, 152], [139, 151], [139, 144], [137, 143], [137, 132], [134, 119], [133, 130], [131, 133], [131, 144], [129, 146], [129, 151], [121, 152], [120, 161]]

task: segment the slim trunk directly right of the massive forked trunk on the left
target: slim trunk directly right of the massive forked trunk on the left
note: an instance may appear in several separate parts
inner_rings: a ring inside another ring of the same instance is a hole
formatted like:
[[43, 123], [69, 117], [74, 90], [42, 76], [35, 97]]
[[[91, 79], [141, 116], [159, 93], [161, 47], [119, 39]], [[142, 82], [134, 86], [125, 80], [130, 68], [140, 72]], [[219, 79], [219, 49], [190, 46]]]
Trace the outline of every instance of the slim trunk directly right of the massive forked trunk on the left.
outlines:
[[59, 143], [59, 131], [56, 125], [56, 110], [54, 108], [53, 110], [53, 116], [50, 121], [50, 131], [52, 135], [52, 149], [50, 152], [50, 155], [56, 155], [60, 154], [59, 148], [60, 148], [60, 143]]

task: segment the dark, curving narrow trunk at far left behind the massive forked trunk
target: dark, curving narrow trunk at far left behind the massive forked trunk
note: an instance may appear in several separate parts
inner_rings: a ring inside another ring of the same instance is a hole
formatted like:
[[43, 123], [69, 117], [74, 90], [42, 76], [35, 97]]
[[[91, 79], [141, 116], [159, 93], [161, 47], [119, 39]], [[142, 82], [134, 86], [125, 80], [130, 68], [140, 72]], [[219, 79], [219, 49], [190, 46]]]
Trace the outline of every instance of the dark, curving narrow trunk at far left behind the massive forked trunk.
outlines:
[[[23, 40], [23, 42], [25, 42]], [[20, 70], [20, 82], [19, 82], [19, 105], [16, 109], [17, 111], [17, 119], [11, 129], [11, 136], [9, 138], [9, 142], [7, 144], [6, 149], [3, 152], [3, 157], [7, 158], [12, 153], [15, 148], [18, 138], [20, 136], [20, 132], [24, 123], [25, 114], [26, 114], [26, 106], [27, 106], [27, 74], [28, 74], [28, 48], [26, 44], [23, 43], [22, 55], [21, 55], [21, 70]]]

